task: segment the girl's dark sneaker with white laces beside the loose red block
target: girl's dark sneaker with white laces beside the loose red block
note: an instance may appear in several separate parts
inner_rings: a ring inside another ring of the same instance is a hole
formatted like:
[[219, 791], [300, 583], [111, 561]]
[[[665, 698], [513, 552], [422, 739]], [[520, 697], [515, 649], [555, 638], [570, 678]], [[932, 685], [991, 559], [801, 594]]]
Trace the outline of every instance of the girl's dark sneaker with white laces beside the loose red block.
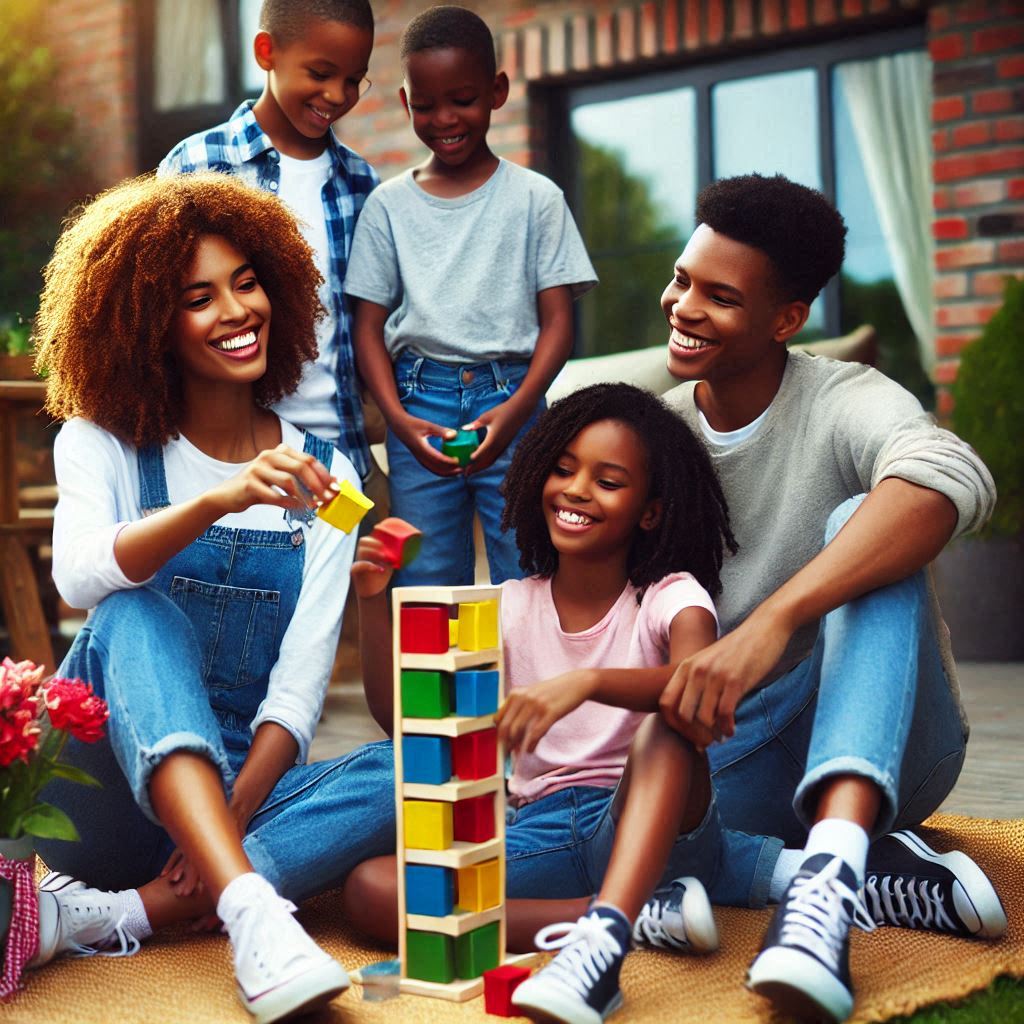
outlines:
[[574, 925], [549, 925], [534, 941], [539, 949], [561, 951], [512, 993], [512, 1006], [525, 1016], [601, 1024], [623, 1005], [618, 972], [630, 948], [630, 923], [613, 907], [596, 906]]

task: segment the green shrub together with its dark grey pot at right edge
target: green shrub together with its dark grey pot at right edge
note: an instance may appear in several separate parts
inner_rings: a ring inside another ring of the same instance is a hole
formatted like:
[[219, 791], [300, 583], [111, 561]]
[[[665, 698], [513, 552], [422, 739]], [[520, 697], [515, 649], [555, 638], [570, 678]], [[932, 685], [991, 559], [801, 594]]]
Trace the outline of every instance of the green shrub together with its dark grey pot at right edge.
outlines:
[[953, 653], [1024, 660], [1024, 281], [1008, 278], [1002, 307], [964, 351], [953, 385], [953, 430], [981, 456], [998, 500], [986, 528], [936, 561]]

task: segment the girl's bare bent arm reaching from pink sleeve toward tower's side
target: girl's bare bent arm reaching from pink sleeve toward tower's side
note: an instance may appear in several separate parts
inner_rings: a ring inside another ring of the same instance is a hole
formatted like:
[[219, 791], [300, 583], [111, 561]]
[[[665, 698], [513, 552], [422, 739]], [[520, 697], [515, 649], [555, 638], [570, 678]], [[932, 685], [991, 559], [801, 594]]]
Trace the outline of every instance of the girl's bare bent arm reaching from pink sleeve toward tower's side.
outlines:
[[[705, 608], [683, 608], [670, 627], [669, 665], [652, 669], [579, 669], [531, 686], [517, 687], [498, 711], [498, 734], [510, 750], [532, 751], [559, 719], [585, 700], [630, 711], [653, 712], [676, 666], [684, 657], [715, 639], [715, 618]], [[681, 730], [682, 731], [682, 730]], [[685, 730], [688, 738], [696, 733], [701, 745], [711, 742], [710, 731]]]

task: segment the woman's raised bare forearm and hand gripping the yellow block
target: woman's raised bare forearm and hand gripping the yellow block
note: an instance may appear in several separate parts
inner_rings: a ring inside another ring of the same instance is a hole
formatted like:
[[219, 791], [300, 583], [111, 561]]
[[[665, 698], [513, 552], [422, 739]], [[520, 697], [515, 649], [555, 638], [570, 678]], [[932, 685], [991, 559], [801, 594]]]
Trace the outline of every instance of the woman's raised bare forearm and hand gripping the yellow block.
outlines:
[[114, 542], [114, 557], [129, 580], [141, 583], [229, 512], [244, 512], [253, 505], [305, 508], [297, 479], [317, 501], [334, 497], [326, 466], [311, 455], [279, 444], [261, 452], [241, 473], [219, 486], [128, 523]]

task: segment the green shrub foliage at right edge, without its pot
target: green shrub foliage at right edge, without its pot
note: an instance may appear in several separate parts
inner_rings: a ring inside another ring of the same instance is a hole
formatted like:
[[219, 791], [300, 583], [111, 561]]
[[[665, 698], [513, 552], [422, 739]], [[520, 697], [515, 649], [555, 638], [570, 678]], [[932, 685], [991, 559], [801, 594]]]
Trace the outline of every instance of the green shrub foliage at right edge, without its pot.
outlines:
[[1002, 308], [964, 350], [952, 426], [985, 461], [999, 498], [988, 532], [1024, 534], [1024, 281], [1007, 280]]

